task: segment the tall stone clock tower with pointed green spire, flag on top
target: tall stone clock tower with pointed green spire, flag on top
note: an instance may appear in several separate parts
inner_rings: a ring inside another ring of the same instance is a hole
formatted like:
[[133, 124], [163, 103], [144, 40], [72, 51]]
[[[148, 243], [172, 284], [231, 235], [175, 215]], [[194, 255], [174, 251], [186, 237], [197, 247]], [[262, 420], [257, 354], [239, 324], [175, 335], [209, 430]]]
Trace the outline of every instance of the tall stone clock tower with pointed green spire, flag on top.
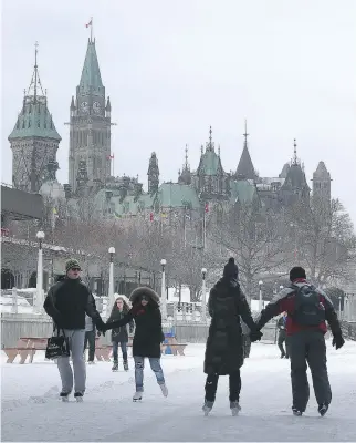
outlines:
[[[87, 187], [105, 186], [111, 176], [111, 101], [105, 97], [95, 39], [88, 39], [76, 96], [71, 102], [69, 181], [75, 194], [86, 165]], [[83, 163], [84, 162], [84, 163]]]

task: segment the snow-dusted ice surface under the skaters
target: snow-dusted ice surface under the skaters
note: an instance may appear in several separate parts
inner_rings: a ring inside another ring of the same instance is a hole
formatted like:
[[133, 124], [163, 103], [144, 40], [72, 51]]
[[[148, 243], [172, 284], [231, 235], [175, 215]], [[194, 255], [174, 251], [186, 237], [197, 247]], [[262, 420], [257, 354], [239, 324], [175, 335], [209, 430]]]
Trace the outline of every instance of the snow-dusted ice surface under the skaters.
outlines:
[[111, 363], [87, 367], [83, 403], [61, 403], [59, 373], [38, 352], [33, 364], [6, 364], [2, 356], [2, 441], [355, 441], [356, 343], [335, 351], [328, 342], [333, 403], [318, 416], [311, 395], [304, 416], [291, 414], [287, 360], [276, 346], [253, 344], [242, 369], [241, 414], [231, 416], [228, 378], [221, 378], [208, 418], [201, 412], [205, 347], [189, 344], [186, 357], [165, 356], [169, 395], [163, 398], [147, 364], [145, 398], [133, 403], [134, 371], [111, 371]]

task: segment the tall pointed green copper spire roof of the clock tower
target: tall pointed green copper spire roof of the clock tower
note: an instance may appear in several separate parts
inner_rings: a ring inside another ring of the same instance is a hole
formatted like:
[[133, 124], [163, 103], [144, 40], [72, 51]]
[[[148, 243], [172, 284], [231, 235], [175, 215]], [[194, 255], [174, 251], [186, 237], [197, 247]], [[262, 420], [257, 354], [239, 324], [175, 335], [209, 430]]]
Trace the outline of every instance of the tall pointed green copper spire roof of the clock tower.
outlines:
[[98, 61], [95, 49], [95, 41], [87, 42], [86, 55], [84, 66], [81, 76], [80, 92], [102, 92], [103, 89], [101, 70], [98, 68]]

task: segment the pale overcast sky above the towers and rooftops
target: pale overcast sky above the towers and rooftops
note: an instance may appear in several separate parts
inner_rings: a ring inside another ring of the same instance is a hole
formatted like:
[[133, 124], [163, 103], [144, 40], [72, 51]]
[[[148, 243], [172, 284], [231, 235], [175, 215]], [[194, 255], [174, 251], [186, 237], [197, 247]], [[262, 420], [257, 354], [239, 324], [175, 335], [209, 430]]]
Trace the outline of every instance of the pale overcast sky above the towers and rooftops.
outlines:
[[[355, 0], [2, 0], [2, 182], [11, 182], [8, 135], [33, 70], [34, 42], [49, 109], [62, 136], [67, 183], [71, 96], [94, 35], [112, 101], [115, 175], [147, 185], [150, 153], [176, 181], [189, 145], [198, 166], [209, 125], [226, 171], [235, 169], [248, 120], [261, 176], [293, 155], [307, 178], [323, 159], [356, 224]], [[310, 182], [312, 185], [312, 183]]]

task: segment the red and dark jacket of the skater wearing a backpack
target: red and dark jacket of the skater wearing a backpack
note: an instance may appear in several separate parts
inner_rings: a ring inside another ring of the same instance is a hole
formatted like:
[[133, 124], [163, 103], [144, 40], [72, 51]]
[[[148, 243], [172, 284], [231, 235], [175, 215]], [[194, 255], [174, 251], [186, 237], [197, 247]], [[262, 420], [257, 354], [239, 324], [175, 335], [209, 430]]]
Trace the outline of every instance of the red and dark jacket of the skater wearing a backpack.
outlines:
[[[308, 282], [303, 278], [299, 278], [293, 281], [293, 285], [303, 286], [303, 285], [308, 285]], [[337, 313], [334, 309], [332, 300], [322, 289], [316, 288], [315, 290], [320, 295], [320, 301], [325, 308], [325, 318], [332, 329], [333, 334], [335, 336], [337, 333], [341, 333], [341, 327], [337, 319]], [[323, 321], [317, 327], [299, 324], [293, 318], [294, 310], [295, 310], [295, 289], [292, 287], [284, 288], [269, 302], [265, 309], [262, 310], [260, 318], [256, 322], [258, 328], [259, 329], [263, 328], [263, 326], [266, 322], [269, 322], [273, 317], [285, 311], [287, 312], [287, 318], [285, 323], [287, 336], [292, 336], [293, 333], [305, 329], [321, 330], [323, 333], [326, 333], [327, 326], [325, 321]]]

